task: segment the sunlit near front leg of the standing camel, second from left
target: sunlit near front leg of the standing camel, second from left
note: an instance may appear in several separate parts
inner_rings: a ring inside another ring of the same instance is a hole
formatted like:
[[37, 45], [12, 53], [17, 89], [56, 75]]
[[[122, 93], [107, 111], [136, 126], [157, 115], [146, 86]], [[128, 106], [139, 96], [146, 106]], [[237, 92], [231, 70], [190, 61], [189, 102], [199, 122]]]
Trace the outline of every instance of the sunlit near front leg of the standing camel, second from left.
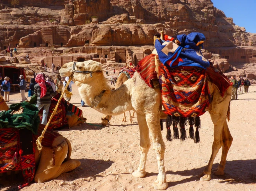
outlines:
[[160, 128], [160, 117], [155, 114], [147, 114], [146, 121], [149, 127], [149, 131], [151, 133], [152, 141], [153, 141], [153, 149], [157, 154], [157, 162], [158, 162], [158, 176], [157, 180], [153, 183], [153, 187], [156, 190], [167, 189], [168, 184], [166, 182], [166, 174], [165, 174], [165, 143], [162, 139], [161, 128]]

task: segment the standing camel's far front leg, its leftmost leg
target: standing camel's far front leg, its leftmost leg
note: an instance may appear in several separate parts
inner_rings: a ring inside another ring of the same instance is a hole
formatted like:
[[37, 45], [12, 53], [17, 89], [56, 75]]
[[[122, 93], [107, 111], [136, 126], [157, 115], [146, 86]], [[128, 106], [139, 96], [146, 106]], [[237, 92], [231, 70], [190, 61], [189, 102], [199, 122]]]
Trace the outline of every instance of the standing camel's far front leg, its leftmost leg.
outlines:
[[140, 128], [140, 164], [132, 175], [134, 177], [144, 177], [146, 175], [147, 154], [150, 148], [149, 129], [145, 115], [137, 115], [137, 119]]

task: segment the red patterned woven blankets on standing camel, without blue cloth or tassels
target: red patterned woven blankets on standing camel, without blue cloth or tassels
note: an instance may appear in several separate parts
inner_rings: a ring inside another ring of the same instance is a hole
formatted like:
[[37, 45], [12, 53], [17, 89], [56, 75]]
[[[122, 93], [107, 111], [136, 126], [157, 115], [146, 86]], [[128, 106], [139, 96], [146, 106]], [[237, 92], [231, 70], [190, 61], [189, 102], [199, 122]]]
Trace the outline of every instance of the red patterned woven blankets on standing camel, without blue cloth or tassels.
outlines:
[[[142, 59], [137, 69], [141, 78], [151, 88], [153, 88], [152, 80], [157, 79], [155, 56], [155, 54], [150, 54]], [[212, 92], [208, 87], [208, 81], [214, 83], [222, 91], [222, 96], [230, 86], [227, 78], [212, 67], [208, 67], [207, 70], [187, 66], [170, 68], [164, 66], [157, 56], [156, 58], [162, 105], [166, 114], [177, 117], [200, 116], [207, 111], [211, 103]]]

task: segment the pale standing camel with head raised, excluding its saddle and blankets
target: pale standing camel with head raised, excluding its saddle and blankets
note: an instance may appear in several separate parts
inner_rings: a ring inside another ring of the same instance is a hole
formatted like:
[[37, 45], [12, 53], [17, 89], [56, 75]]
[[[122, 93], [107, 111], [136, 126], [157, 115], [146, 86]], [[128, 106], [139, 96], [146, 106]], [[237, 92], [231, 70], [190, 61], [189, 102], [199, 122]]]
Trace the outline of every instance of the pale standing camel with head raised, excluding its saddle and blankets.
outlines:
[[[160, 89], [150, 88], [135, 72], [133, 78], [125, 81], [118, 89], [111, 90], [103, 75], [102, 64], [92, 60], [66, 63], [61, 67], [60, 74], [61, 76], [73, 77], [73, 81], [79, 87], [78, 91], [82, 100], [100, 113], [120, 115], [129, 110], [134, 110], [137, 113], [141, 158], [138, 169], [132, 175], [134, 177], [144, 177], [146, 174], [145, 167], [150, 148], [150, 132], [153, 149], [157, 154], [158, 161], [158, 176], [153, 183], [153, 187], [156, 190], [166, 189], [168, 184], [164, 166], [165, 143], [160, 129], [160, 114], [162, 112]], [[211, 82], [208, 81], [208, 84], [211, 86]], [[221, 161], [213, 174], [224, 174], [228, 150], [232, 143], [226, 120], [227, 116], [229, 117], [227, 113], [229, 112], [232, 87], [227, 89], [223, 97], [221, 97], [217, 88], [211, 87], [213, 88], [213, 96], [208, 111], [214, 124], [214, 140], [209, 163], [199, 175], [201, 181], [211, 179], [212, 164], [221, 146]]]

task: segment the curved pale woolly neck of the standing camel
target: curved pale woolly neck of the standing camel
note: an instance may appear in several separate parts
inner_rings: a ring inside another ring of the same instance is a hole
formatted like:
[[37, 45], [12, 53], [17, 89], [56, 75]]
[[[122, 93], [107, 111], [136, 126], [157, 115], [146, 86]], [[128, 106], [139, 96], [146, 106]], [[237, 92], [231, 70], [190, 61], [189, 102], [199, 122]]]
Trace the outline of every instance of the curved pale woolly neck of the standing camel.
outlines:
[[119, 115], [131, 110], [130, 83], [127, 83], [129, 81], [118, 89], [111, 90], [103, 74], [94, 75], [93, 78], [86, 84], [76, 82], [77, 86], [79, 86], [79, 94], [87, 105], [90, 105], [96, 96], [106, 90], [97, 107], [93, 109], [107, 115]]

